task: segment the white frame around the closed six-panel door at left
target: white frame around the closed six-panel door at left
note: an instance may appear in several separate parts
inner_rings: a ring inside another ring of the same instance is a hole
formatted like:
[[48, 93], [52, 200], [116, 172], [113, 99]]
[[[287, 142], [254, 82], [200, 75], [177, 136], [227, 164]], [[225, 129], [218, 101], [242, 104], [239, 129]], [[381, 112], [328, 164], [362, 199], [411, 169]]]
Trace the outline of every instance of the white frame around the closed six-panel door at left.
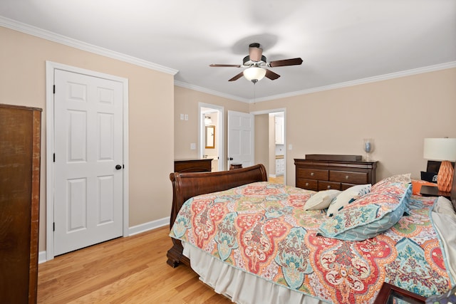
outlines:
[[66, 70], [123, 83], [123, 236], [128, 236], [128, 79], [46, 61], [46, 261], [54, 258], [54, 70]]

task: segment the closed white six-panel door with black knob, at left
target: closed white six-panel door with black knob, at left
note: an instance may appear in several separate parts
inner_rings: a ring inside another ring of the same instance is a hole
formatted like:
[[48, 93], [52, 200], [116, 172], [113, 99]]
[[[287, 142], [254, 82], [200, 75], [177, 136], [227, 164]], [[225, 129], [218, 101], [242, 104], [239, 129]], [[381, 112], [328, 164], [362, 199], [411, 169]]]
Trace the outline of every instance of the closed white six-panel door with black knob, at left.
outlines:
[[123, 235], [123, 83], [55, 70], [54, 255]]

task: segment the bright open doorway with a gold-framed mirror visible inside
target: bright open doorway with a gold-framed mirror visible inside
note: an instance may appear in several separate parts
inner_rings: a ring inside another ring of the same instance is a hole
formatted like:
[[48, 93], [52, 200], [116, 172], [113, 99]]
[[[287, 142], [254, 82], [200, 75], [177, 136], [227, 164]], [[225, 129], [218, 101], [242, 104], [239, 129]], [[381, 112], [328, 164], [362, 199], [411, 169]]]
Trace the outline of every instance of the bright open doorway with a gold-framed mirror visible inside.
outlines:
[[212, 172], [224, 170], [224, 108], [199, 103], [199, 157], [212, 158]]

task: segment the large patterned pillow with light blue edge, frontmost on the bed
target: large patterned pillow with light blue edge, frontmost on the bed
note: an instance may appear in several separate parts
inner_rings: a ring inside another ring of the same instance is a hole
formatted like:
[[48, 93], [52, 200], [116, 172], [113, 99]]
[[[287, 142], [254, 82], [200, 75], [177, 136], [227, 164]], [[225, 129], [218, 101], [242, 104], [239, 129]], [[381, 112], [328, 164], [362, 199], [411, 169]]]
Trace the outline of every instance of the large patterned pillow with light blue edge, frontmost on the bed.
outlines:
[[370, 192], [341, 212], [323, 221], [317, 235], [345, 241], [363, 241], [390, 229], [403, 216], [412, 193], [412, 185], [395, 183], [400, 196], [388, 192]]

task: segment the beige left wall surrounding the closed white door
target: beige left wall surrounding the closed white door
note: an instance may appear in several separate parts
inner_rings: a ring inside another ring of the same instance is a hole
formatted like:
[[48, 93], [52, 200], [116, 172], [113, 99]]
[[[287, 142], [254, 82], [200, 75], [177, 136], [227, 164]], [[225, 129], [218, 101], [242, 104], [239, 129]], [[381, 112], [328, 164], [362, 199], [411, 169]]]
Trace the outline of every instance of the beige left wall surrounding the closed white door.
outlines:
[[0, 27], [0, 103], [43, 109], [39, 251], [46, 250], [46, 61], [129, 80], [130, 227], [170, 215], [174, 77]]

